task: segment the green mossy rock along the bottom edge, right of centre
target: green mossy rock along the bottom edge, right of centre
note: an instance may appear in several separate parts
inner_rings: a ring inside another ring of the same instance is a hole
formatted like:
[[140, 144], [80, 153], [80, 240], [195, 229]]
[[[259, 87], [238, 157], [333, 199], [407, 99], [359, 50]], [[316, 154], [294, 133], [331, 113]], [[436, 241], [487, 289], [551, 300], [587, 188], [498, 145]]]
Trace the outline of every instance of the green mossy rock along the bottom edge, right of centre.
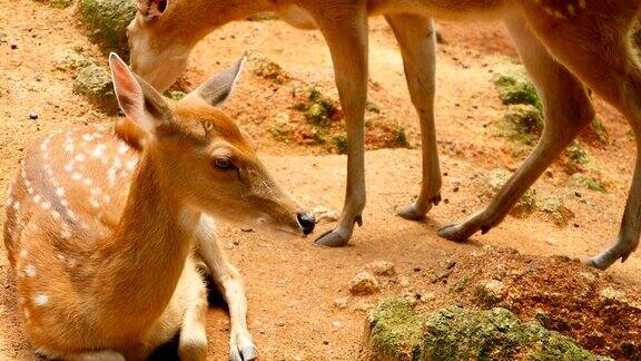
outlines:
[[366, 360], [610, 360], [500, 308], [450, 306], [423, 318], [392, 299], [367, 321]]

